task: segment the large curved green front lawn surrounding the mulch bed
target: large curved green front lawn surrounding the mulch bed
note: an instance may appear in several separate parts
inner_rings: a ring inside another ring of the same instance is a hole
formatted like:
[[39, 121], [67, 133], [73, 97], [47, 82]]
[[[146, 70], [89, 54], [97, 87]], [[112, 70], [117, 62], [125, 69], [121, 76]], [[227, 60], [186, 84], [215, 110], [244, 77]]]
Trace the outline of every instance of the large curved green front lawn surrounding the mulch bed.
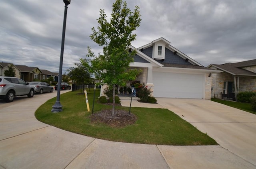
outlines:
[[[99, 91], [96, 92], [99, 96]], [[97, 98], [97, 97], [96, 97]], [[93, 91], [88, 92], [90, 110], [92, 111]], [[97, 103], [94, 112], [111, 109], [111, 105]], [[135, 124], [123, 128], [112, 128], [104, 124], [92, 124], [91, 112], [87, 111], [84, 94], [67, 92], [60, 96], [63, 111], [52, 113], [56, 98], [48, 100], [36, 110], [36, 118], [46, 124], [63, 130], [100, 138], [104, 140], [145, 143], [157, 145], [216, 145], [216, 141], [197, 130], [190, 123], [168, 109], [132, 107], [131, 112], [137, 116]], [[116, 109], [129, 111], [128, 107], [116, 106]]]

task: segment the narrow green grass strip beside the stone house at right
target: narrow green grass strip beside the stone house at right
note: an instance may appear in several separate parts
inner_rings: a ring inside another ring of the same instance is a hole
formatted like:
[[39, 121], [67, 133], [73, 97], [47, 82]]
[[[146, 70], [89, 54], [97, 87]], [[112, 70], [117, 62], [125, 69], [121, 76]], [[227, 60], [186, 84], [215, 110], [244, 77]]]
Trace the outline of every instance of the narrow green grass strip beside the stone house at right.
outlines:
[[212, 98], [211, 100], [214, 101], [214, 102], [225, 104], [225, 105], [230, 106], [230, 107], [234, 107], [234, 108], [238, 108], [240, 110], [244, 110], [246, 112], [256, 114], [256, 112], [252, 109], [252, 104], [250, 104], [250, 103], [233, 102], [233, 101], [228, 101], [228, 100], [221, 100], [221, 99], [218, 99], [218, 98]]

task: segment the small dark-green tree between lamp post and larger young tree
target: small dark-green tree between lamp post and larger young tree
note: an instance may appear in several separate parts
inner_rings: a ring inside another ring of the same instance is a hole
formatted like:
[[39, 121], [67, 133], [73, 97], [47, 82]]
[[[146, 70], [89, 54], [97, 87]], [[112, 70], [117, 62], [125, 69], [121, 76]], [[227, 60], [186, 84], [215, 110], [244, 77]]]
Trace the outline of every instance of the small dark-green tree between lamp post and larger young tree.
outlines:
[[74, 65], [76, 67], [68, 69], [68, 75], [76, 81], [76, 83], [81, 84], [84, 90], [84, 84], [90, 82], [90, 66], [86, 59], [80, 59], [80, 63], [75, 63]]

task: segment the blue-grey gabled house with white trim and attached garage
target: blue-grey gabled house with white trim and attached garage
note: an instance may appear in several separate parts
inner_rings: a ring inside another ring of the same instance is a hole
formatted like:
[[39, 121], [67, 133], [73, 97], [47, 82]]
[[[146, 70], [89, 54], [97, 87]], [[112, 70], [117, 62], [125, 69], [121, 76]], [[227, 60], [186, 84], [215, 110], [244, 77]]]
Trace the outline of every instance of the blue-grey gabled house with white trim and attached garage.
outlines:
[[136, 80], [151, 88], [154, 97], [211, 98], [211, 73], [221, 71], [202, 66], [163, 37], [130, 49], [137, 51], [131, 69], [143, 71]]

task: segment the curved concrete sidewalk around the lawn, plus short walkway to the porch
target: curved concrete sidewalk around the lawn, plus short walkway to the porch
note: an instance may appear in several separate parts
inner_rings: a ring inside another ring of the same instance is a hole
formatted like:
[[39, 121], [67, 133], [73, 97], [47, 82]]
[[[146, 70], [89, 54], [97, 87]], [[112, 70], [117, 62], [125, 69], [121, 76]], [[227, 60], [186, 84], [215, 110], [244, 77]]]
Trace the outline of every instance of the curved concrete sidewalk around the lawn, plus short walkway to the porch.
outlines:
[[[63, 91], [65, 92], [65, 91]], [[253, 169], [238, 155], [213, 146], [168, 146], [120, 143], [66, 132], [38, 122], [36, 109], [54, 93], [0, 103], [1, 169]], [[130, 106], [129, 98], [122, 98]], [[164, 108], [160, 104], [132, 106]]]

